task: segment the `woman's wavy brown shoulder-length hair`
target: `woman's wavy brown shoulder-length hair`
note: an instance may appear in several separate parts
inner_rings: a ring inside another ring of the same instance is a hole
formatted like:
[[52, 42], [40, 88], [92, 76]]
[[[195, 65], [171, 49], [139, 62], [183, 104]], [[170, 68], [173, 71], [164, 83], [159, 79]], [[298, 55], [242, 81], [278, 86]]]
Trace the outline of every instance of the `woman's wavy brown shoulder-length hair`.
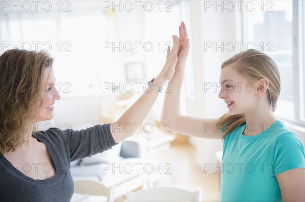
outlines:
[[0, 149], [25, 142], [24, 126], [42, 103], [42, 77], [53, 59], [43, 51], [12, 49], [0, 55]]

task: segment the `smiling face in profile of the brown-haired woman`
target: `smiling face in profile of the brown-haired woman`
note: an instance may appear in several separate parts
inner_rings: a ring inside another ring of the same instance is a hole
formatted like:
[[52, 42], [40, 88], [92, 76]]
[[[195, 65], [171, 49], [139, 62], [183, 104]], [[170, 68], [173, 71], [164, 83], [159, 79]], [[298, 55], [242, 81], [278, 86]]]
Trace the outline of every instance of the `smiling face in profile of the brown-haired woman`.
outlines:
[[55, 88], [54, 71], [50, 67], [45, 68], [43, 72], [42, 96], [43, 102], [38, 108], [37, 115], [34, 118], [34, 123], [52, 119], [54, 115], [53, 110], [55, 100], [60, 99], [60, 95]]

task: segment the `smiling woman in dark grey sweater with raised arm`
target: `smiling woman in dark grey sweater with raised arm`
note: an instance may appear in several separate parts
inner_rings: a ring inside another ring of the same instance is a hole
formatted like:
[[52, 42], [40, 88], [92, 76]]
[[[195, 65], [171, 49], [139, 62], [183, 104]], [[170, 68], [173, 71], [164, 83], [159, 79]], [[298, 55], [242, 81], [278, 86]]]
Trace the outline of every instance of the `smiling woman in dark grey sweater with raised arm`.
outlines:
[[[110, 149], [131, 136], [118, 129], [141, 123], [161, 86], [175, 71], [178, 37], [146, 92], [114, 123], [86, 130], [34, 132], [36, 122], [53, 117], [60, 99], [52, 58], [44, 52], [8, 50], [0, 56], [0, 201], [70, 201], [74, 186], [70, 162]], [[156, 85], [156, 86], [155, 86]]]

